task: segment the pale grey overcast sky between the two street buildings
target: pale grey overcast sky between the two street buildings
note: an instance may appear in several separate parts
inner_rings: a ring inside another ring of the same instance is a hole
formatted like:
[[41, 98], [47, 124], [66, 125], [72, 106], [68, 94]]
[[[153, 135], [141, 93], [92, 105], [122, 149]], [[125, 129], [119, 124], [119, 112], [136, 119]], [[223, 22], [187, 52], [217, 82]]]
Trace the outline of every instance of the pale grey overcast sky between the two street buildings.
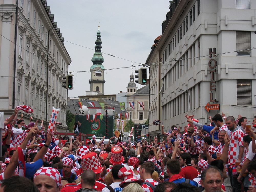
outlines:
[[[162, 34], [161, 24], [169, 11], [168, 5], [168, 0], [47, 0], [72, 60], [69, 71], [90, 70], [99, 22], [106, 69], [145, 63], [154, 39]], [[139, 68], [134, 67], [133, 74]], [[74, 89], [68, 90], [68, 97], [86, 95], [85, 91], [90, 91], [91, 73], [73, 75]], [[104, 93], [126, 92], [130, 75], [131, 68], [106, 70]]]

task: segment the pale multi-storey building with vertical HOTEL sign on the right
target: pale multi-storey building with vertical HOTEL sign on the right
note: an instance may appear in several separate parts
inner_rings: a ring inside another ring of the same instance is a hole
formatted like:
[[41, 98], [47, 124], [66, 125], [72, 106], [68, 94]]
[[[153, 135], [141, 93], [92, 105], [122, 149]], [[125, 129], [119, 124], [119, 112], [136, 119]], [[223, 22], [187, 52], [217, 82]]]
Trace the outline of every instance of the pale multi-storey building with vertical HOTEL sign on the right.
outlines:
[[255, 10], [252, 0], [172, 1], [162, 36], [146, 62], [157, 63], [150, 65], [151, 137], [159, 132], [152, 125], [158, 115], [165, 131], [172, 125], [183, 130], [186, 113], [202, 124], [221, 111], [252, 120]]

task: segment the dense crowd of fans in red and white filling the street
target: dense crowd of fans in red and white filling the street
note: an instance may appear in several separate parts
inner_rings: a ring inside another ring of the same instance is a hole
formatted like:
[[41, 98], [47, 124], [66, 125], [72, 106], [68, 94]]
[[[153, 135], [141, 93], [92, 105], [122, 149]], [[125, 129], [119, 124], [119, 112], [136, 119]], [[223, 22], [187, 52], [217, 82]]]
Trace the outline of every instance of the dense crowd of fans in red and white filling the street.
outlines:
[[207, 126], [186, 115], [184, 133], [161, 126], [160, 142], [97, 142], [61, 137], [56, 126], [45, 132], [43, 121], [25, 125], [17, 114], [16, 108], [2, 132], [3, 192], [256, 192], [256, 116], [249, 128], [241, 115], [216, 114]]

